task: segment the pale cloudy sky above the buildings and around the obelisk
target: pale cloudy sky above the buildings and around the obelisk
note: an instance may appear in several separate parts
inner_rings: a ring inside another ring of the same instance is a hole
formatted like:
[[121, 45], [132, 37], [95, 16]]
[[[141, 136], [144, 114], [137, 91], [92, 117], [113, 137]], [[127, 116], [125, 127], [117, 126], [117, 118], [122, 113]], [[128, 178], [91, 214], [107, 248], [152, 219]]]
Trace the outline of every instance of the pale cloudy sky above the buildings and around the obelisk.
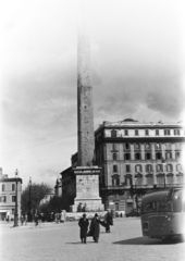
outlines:
[[54, 186], [77, 151], [77, 34], [90, 37], [94, 127], [184, 117], [181, 0], [0, 4], [0, 166]]

